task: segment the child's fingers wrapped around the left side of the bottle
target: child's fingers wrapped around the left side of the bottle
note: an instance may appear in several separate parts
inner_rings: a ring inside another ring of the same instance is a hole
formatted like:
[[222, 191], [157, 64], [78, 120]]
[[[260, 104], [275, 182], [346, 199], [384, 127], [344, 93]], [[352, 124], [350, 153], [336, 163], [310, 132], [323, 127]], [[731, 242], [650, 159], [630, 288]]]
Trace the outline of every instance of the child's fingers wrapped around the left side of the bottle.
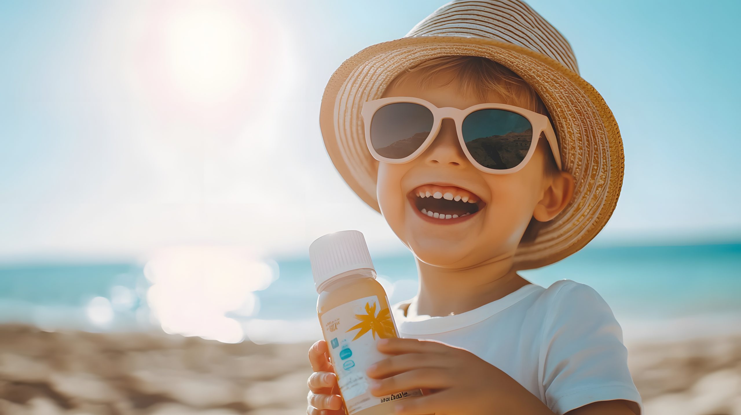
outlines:
[[314, 373], [310, 375], [308, 415], [345, 415], [342, 397], [339, 396], [339, 386], [334, 368], [327, 357], [327, 342], [319, 340], [309, 348], [309, 362]]

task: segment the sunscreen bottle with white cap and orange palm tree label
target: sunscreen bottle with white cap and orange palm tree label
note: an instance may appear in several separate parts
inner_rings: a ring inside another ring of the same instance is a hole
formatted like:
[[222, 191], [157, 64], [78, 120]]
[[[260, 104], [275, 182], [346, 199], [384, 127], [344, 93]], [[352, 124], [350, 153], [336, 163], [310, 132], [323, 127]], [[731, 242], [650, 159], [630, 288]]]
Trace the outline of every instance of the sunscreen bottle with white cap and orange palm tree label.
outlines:
[[390, 415], [401, 400], [422, 396], [420, 389], [383, 397], [369, 390], [366, 369], [389, 357], [378, 351], [376, 341], [399, 337], [399, 331], [363, 234], [342, 231], [319, 237], [309, 246], [309, 258], [319, 293], [316, 312], [348, 414]]

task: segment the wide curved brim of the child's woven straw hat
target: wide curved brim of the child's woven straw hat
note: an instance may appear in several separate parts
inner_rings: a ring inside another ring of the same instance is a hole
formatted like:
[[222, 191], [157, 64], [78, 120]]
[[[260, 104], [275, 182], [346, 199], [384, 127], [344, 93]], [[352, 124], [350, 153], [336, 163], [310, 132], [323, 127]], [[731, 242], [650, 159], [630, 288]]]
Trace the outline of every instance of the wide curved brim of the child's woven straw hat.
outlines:
[[542, 98], [560, 140], [562, 170], [574, 175], [574, 197], [531, 242], [519, 244], [515, 269], [555, 263], [582, 249], [605, 226], [622, 187], [624, 155], [617, 121], [599, 92], [559, 61], [487, 38], [413, 36], [366, 47], [330, 77], [319, 114], [332, 163], [368, 206], [376, 200], [378, 161], [365, 144], [360, 110], [380, 98], [400, 72], [445, 55], [477, 55], [508, 67]]

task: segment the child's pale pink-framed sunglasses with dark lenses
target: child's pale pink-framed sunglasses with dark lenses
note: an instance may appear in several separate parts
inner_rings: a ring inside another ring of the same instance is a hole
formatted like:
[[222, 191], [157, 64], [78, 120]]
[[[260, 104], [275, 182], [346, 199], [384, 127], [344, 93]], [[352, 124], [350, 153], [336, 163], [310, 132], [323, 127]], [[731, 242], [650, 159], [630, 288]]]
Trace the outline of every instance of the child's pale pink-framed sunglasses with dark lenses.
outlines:
[[367, 101], [361, 111], [371, 155], [385, 163], [407, 163], [430, 146], [444, 118], [455, 121], [458, 141], [476, 168], [495, 175], [517, 172], [530, 161], [541, 133], [556, 165], [561, 155], [548, 117], [507, 104], [438, 108], [421, 98], [388, 97]]

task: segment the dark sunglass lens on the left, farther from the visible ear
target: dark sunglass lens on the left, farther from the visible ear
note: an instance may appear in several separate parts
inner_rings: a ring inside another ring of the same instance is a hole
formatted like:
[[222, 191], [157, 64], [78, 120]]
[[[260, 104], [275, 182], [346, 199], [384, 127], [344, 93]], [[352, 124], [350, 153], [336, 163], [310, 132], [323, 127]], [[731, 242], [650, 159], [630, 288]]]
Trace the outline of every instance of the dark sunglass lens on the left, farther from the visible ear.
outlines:
[[379, 155], [405, 158], [428, 138], [433, 115], [427, 107], [395, 102], [379, 108], [371, 120], [371, 144]]

